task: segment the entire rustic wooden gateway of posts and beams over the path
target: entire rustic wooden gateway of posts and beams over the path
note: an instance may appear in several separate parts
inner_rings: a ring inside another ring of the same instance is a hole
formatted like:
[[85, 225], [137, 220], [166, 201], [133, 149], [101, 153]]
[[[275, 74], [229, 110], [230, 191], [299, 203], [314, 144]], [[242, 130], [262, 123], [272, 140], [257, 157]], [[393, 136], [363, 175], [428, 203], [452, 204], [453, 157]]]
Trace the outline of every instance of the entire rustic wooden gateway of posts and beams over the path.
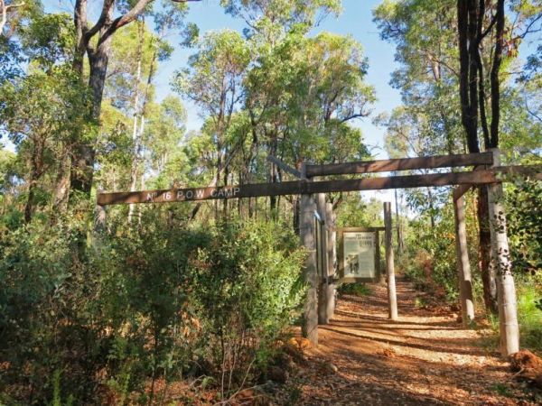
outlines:
[[[462, 300], [463, 323], [468, 324], [474, 318], [472, 304], [472, 284], [464, 223], [463, 194], [473, 186], [487, 187], [490, 205], [491, 250], [493, 266], [498, 271], [500, 317], [500, 346], [503, 355], [519, 351], [519, 329], [516, 311], [514, 281], [509, 261], [506, 216], [502, 205], [502, 181], [513, 177], [531, 177], [542, 180], [542, 165], [500, 166], [498, 150], [483, 153], [442, 155], [422, 158], [406, 158], [381, 161], [358, 161], [329, 165], [302, 165], [301, 171], [285, 165], [274, 157], [269, 157], [283, 171], [294, 175], [298, 180], [280, 183], [261, 183], [239, 186], [223, 186], [191, 189], [163, 189], [135, 192], [98, 193], [98, 208], [103, 217], [104, 206], [135, 203], [170, 203], [201, 201], [224, 198], [254, 198], [280, 195], [301, 195], [300, 236], [301, 243], [307, 250], [304, 265], [304, 278], [308, 285], [304, 304], [303, 333], [314, 344], [318, 342], [318, 322], [327, 323], [333, 311], [334, 279], [332, 257], [329, 254], [328, 238], [320, 238], [317, 243], [317, 225], [329, 227], [331, 204], [325, 203], [325, 193], [341, 191], [405, 189], [422, 187], [455, 186], [453, 202], [456, 216], [456, 247], [458, 275]], [[472, 171], [444, 171], [424, 175], [401, 175], [364, 179], [318, 180], [331, 175], [353, 175], [388, 171], [411, 171], [422, 169], [459, 168], [472, 166]], [[316, 200], [314, 199], [316, 195]], [[317, 204], [318, 202], [318, 204]], [[391, 211], [388, 203], [384, 204], [386, 221], [386, 269], [388, 275], [389, 317], [397, 319], [397, 298], [395, 294], [395, 276], [393, 250], [391, 249]], [[314, 217], [318, 217], [315, 221]], [[328, 233], [329, 234], [329, 233]], [[318, 249], [319, 248], [319, 249]], [[320, 253], [320, 254], [318, 254]], [[324, 253], [325, 255], [323, 255]], [[318, 263], [321, 266], [318, 266]], [[354, 266], [355, 267], [355, 266]], [[321, 268], [319, 274], [318, 268]], [[506, 302], [503, 298], [506, 298]]]

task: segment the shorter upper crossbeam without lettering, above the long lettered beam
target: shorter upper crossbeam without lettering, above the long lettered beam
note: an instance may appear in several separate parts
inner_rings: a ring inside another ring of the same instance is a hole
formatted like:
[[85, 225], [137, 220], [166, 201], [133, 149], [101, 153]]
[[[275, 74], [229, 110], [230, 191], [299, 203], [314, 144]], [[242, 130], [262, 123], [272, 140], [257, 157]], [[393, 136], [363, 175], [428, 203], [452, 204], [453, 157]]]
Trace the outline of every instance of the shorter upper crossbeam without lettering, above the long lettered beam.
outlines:
[[391, 171], [411, 171], [419, 169], [454, 168], [471, 165], [492, 165], [491, 152], [464, 153], [458, 155], [437, 155], [395, 160], [359, 161], [306, 165], [306, 176], [346, 175], [352, 173], [372, 173]]

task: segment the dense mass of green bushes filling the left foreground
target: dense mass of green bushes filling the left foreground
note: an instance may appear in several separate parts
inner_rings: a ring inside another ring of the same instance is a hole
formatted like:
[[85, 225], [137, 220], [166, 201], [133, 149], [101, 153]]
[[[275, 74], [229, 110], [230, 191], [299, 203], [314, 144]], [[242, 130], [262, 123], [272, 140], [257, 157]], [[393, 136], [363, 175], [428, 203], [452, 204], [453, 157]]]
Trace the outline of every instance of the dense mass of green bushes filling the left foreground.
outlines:
[[227, 396], [295, 317], [303, 252], [286, 227], [182, 228], [149, 212], [141, 230], [83, 246], [73, 224], [2, 237], [0, 402], [143, 402], [182, 374]]

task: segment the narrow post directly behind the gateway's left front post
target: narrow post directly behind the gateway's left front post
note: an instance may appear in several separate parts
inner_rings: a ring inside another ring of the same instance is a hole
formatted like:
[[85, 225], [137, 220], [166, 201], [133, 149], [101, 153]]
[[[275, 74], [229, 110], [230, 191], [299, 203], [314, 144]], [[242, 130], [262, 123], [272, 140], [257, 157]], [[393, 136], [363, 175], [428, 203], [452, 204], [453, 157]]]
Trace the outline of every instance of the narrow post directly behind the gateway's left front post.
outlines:
[[322, 218], [322, 224], [318, 224], [320, 227], [320, 245], [318, 246], [320, 256], [320, 283], [318, 290], [318, 324], [329, 324], [329, 260], [328, 260], [328, 218], [325, 203], [325, 194], [318, 193], [316, 195], [316, 208], [320, 217]]

